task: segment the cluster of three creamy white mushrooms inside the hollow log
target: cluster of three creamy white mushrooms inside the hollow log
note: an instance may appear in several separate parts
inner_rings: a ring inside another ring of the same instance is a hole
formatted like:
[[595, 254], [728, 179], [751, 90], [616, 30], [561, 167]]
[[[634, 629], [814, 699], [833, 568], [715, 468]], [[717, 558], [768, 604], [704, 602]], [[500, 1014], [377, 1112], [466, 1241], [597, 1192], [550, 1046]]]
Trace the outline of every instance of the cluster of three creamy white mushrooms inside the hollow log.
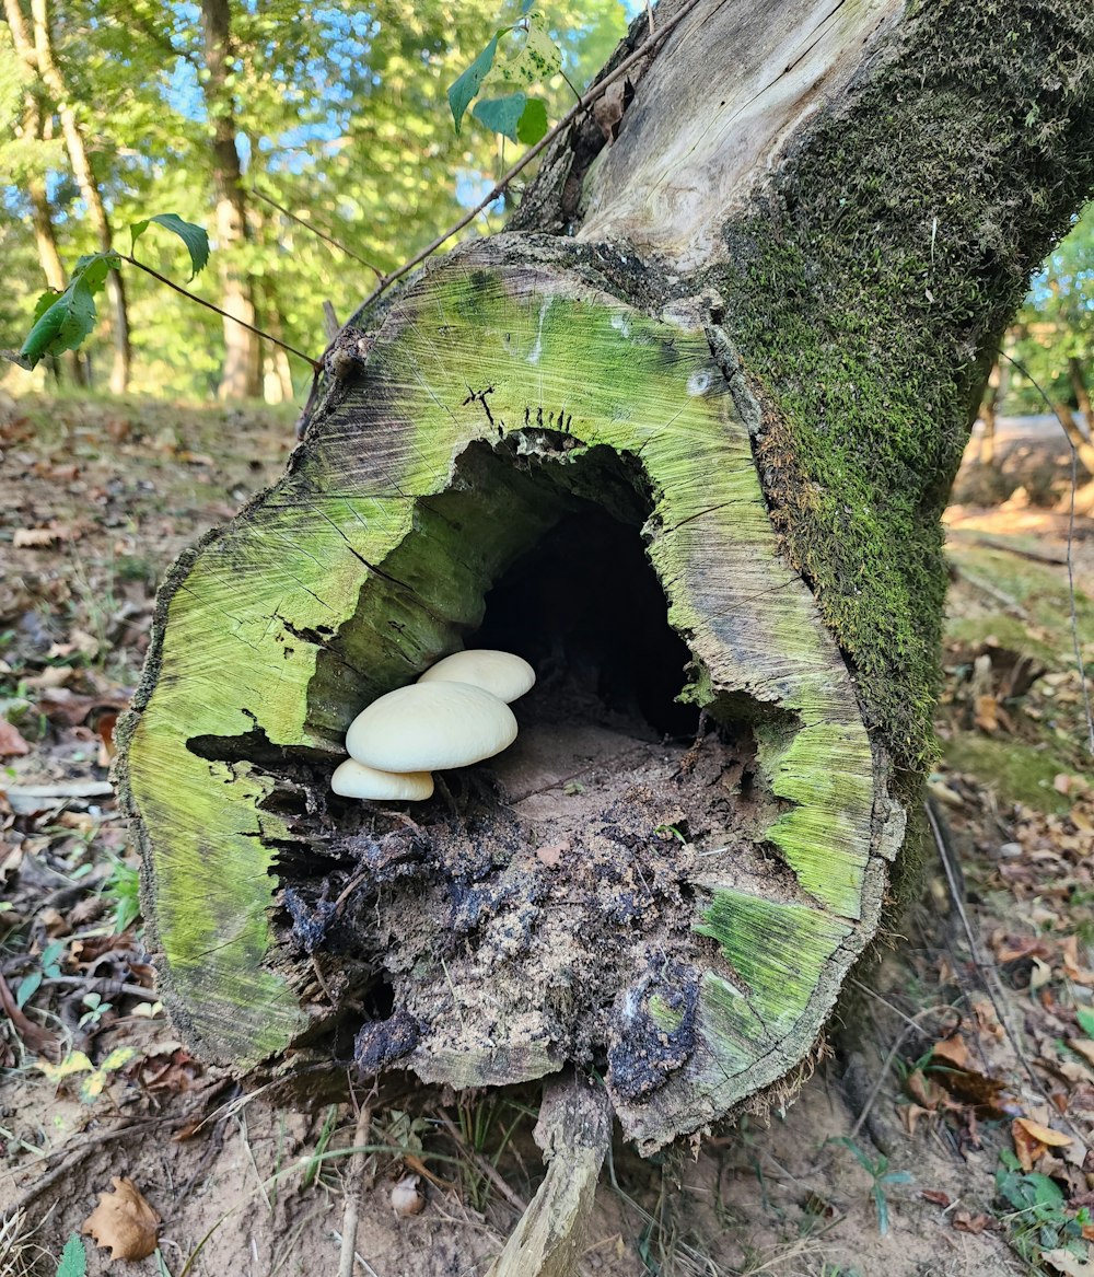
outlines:
[[433, 794], [433, 773], [466, 767], [500, 753], [517, 738], [509, 701], [536, 674], [508, 651], [457, 651], [408, 687], [380, 696], [346, 732], [350, 757], [331, 788], [343, 798], [420, 802]]

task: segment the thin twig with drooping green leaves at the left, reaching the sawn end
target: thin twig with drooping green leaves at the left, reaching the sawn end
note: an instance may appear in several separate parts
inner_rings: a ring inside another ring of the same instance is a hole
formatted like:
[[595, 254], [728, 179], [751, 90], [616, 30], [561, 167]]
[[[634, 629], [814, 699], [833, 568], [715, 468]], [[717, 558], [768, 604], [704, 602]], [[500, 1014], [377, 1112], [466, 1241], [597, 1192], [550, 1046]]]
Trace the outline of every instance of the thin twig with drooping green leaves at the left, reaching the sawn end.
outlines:
[[82, 257], [77, 262], [75, 271], [73, 271], [73, 276], [64, 292], [57, 294], [50, 290], [38, 298], [38, 303], [34, 306], [33, 327], [19, 351], [5, 350], [0, 351], [0, 354], [20, 368], [32, 369], [47, 355], [60, 355], [66, 350], [77, 350], [94, 328], [97, 318], [96, 294], [102, 291], [110, 273], [120, 269], [123, 262], [128, 262], [130, 266], [144, 271], [146, 275], [151, 275], [153, 280], [166, 283], [169, 289], [174, 289], [175, 292], [180, 292], [184, 298], [197, 301], [225, 319], [234, 319], [237, 324], [250, 329], [250, 332], [257, 333], [259, 337], [264, 337], [290, 354], [297, 355], [310, 364], [313, 369], [318, 369], [319, 365], [315, 360], [310, 355], [305, 355], [303, 350], [296, 350], [268, 332], [263, 332], [260, 328], [255, 328], [236, 315], [229, 314], [212, 301], [197, 296], [189, 289], [184, 289], [180, 283], [175, 283], [151, 266], [138, 261], [135, 257], [137, 241], [153, 222], [177, 235], [186, 246], [190, 257], [190, 280], [193, 280], [209, 259], [209, 238], [206, 231], [193, 222], [184, 221], [176, 213], [157, 213], [154, 217], [146, 217], [129, 227], [131, 252], [119, 253], [116, 249], [111, 249], [105, 253], [89, 253]]

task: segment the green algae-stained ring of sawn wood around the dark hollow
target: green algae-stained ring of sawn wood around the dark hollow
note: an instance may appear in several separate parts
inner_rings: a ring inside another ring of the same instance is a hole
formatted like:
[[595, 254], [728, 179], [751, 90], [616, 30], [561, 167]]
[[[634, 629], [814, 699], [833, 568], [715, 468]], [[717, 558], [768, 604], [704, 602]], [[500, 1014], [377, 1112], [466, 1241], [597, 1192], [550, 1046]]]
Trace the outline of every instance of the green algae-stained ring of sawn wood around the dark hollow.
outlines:
[[[460, 646], [493, 582], [572, 502], [617, 499], [620, 466], [650, 504], [647, 552], [693, 656], [692, 695], [716, 719], [753, 706], [784, 806], [767, 839], [798, 886], [793, 900], [702, 886], [694, 925], [728, 965], [702, 981], [701, 1048], [652, 1096], [614, 1094], [617, 1111], [654, 1148], [812, 1048], [876, 925], [888, 807], [702, 322], [651, 319], [497, 249], [465, 253], [392, 308], [286, 478], [176, 566], [121, 775], [166, 996], [207, 1056], [283, 1051], [317, 1014], [268, 922], [278, 856], [301, 842], [269, 801], [271, 760], [333, 762], [354, 715]], [[765, 723], [777, 724], [766, 737]], [[232, 757], [258, 761], [217, 761]], [[795, 978], [781, 978], [791, 955]], [[522, 1077], [560, 1062], [550, 1043], [447, 1059], [428, 1041], [410, 1062], [471, 1085], [508, 1080], [506, 1059]]]

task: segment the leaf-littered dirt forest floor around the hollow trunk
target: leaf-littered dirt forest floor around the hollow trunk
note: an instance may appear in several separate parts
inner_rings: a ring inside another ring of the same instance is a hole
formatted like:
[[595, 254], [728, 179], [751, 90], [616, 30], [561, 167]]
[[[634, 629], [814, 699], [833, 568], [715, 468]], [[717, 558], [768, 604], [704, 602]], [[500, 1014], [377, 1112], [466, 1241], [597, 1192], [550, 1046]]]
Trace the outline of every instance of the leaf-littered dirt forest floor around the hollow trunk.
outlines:
[[[532, 1089], [407, 1094], [368, 1125], [286, 1107], [193, 1059], [156, 1001], [114, 722], [165, 567], [280, 474], [291, 430], [0, 396], [0, 1277], [106, 1272], [106, 1246], [147, 1255], [114, 1272], [333, 1277], [361, 1189], [355, 1272], [470, 1277], [543, 1176]], [[1012, 489], [1029, 458], [1011, 469]], [[697, 1158], [617, 1143], [583, 1273], [1094, 1274], [1094, 771], [1066, 538], [1028, 489], [951, 510], [913, 898], [785, 1112]], [[1090, 517], [1074, 550], [1089, 663]]]

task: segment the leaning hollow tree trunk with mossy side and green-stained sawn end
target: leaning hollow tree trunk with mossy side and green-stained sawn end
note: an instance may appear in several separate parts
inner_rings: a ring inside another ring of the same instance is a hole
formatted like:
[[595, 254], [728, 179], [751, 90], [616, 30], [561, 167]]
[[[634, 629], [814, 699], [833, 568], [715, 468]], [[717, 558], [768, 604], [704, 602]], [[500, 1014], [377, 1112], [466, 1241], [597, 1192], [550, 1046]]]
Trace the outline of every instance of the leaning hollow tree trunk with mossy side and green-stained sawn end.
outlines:
[[[342, 332], [123, 730], [207, 1057], [596, 1069], [646, 1152], [793, 1091], [932, 755], [984, 352], [1091, 180], [1089, 5], [1003, 10], [700, 3], [517, 232]], [[412, 820], [334, 798], [354, 715], [463, 642], [537, 667], [513, 750]]]

